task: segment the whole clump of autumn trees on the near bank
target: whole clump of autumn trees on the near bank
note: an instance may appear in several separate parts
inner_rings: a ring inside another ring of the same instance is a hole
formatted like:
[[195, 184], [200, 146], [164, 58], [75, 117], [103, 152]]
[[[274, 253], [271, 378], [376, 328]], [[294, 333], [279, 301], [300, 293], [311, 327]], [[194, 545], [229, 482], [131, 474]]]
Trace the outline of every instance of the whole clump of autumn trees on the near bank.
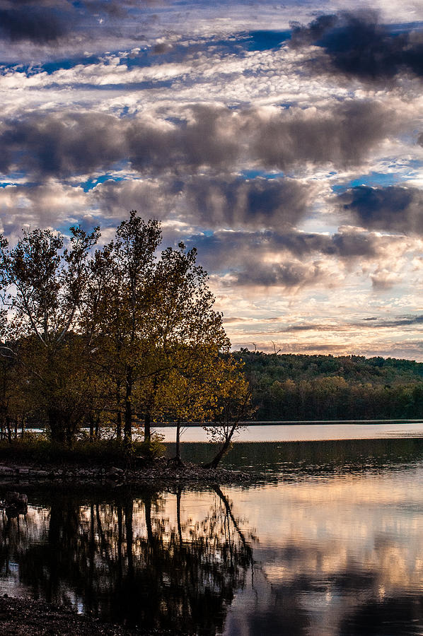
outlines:
[[77, 227], [66, 238], [23, 230], [14, 247], [0, 239], [1, 437], [40, 426], [76, 453], [83, 431], [91, 452], [109, 437], [131, 454], [134, 434], [148, 446], [167, 420], [180, 461], [183, 425], [207, 421], [221, 441], [216, 466], [250, 391], [195, 248], [159, 252], [160, 225], [135, 211], [111, 242], [96, 247], [99, 238]]

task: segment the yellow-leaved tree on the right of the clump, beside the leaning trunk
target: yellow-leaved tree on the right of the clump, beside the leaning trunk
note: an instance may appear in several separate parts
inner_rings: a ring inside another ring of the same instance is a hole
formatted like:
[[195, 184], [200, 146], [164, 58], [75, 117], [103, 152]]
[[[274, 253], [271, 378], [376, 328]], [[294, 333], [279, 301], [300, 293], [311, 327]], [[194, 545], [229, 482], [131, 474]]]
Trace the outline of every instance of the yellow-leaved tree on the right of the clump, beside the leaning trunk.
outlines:
[[[149, 393], [144, 399], [144, 431], [149, 440], [155, 404], [168, 404], [168, 415], [177, 422], [177, 457], [180, 422], [202, 419], [209, 399], [207, 372], [230, 343], [222, 315], [214, 310], [207, 272], [197, 265], [197, 250], [169, 247], [161, 254], [155, 273], [157, 298], [153, 306], [156, 348], [151, 355]], [[163, 399], [163, 393], [167, 398]], [[158, 399], [159, 394], [161, 398]]]

